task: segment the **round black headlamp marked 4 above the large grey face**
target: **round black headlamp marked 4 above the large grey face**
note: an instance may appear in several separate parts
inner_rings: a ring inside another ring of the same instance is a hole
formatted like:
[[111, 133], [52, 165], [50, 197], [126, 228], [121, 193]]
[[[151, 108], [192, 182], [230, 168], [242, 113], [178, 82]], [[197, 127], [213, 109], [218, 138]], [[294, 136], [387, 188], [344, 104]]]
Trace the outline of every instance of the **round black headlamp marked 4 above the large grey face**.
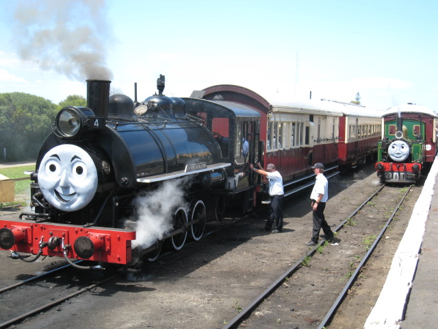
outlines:
[[99, 130], [104, 126], [105, 117], [95, 117], [89, 108], [68, 106], [58, 112], [52, 130], [58, 137], [76, 139], [86, 130]]

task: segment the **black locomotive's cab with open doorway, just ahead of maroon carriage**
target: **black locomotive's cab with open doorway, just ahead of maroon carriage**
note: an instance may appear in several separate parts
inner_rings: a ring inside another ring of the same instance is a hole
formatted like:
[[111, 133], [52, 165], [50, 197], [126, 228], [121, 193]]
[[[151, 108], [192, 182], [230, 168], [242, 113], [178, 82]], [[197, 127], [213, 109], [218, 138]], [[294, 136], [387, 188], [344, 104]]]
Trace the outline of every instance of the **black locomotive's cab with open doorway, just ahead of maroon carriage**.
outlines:
[[261, 159], [259, 152], [260, 114], [257, 110], [232, 101], [222, 101], [220, 97], [206, 100], [203, 91], [195, 91], [192, 98], [184, 98], [185, 108], [190, 117], [199, 120], [214, 136], [221, 150], [221, 161], [230, 163], [227, 180], [222, 188], [226, 195], [239, 195], [244, 212], [255, 205], [257, 179], [250, 171], [249, 164]]

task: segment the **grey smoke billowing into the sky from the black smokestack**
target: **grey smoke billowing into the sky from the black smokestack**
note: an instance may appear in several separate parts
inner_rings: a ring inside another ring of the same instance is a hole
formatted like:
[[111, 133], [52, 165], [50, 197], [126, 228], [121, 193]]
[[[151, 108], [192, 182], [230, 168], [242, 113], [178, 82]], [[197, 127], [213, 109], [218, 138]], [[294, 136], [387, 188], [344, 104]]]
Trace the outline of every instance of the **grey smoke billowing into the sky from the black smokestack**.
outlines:
[[18, 54], [75, 80], [112, 80], [105, 49], [112, 33], [105, 17], [105, 0], [19, 1], [14, 10]]

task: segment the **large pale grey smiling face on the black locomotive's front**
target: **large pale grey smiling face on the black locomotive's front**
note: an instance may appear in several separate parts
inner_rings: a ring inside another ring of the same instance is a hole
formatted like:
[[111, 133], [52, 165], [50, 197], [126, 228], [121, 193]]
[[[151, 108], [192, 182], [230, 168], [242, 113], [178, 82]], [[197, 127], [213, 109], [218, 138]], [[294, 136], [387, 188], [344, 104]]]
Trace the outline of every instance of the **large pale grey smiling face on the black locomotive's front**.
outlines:
[[42, 158], [38, 183], [57, 209], [75, 211], [86, 206], [97, 188], [97, 170], [90, 155], [76, 145], [58, 145]]

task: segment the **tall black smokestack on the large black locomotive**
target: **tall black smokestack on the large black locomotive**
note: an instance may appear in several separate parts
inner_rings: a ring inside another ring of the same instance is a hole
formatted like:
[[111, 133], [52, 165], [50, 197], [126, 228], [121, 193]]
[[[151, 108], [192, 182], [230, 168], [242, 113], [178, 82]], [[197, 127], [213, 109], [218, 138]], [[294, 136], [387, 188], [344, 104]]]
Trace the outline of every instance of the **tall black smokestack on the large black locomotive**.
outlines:
[[110, 99], [109, 80], [86, 80], [87, 82], [87, 107], [96, 117], [107, 117], [108, 101]]

